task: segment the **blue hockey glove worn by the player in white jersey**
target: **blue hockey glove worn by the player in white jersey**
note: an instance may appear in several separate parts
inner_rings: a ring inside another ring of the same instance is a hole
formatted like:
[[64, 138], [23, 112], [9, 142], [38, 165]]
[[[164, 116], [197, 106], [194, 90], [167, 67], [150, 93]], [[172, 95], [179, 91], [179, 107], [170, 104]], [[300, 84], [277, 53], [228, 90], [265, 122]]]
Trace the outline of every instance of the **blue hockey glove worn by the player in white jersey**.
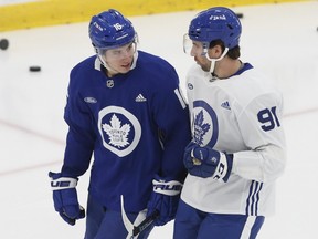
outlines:
[[213, 179], [226, 183], [232, 172], [233, 155], [208, 146], [200, 147], [191, 142], [186, 147], [183, 163], [189, 174], [193, 176], [213, 177]]

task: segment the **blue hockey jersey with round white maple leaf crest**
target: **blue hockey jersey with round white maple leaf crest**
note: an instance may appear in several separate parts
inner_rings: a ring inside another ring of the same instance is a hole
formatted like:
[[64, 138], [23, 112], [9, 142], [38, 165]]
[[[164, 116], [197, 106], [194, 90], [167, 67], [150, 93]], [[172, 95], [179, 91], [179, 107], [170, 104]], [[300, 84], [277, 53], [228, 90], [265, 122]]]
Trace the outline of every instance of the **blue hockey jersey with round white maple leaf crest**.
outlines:
[[147, 207], [156, 174], [186, 177], [188, 105], [176, 70], [158, 56], [138, 51], [136, 67], [113, 77], [103, 69], [94, 55], [71, 71], [62, 175], [83, 175], [94, 158], [91, 196], [120, 210], [124, 195], [126, 211], [137, 212]]

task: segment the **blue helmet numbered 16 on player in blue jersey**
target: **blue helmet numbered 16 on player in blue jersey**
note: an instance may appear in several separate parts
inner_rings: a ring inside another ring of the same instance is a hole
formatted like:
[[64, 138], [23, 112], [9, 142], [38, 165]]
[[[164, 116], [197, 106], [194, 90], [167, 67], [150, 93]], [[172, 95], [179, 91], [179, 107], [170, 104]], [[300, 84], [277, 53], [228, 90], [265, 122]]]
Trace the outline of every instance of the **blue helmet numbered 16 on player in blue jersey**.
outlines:
[[136, 37], [132, 23], [114, 9], [94, 15], [89, 22], [91, 41], [99, 50], [123, 46]]

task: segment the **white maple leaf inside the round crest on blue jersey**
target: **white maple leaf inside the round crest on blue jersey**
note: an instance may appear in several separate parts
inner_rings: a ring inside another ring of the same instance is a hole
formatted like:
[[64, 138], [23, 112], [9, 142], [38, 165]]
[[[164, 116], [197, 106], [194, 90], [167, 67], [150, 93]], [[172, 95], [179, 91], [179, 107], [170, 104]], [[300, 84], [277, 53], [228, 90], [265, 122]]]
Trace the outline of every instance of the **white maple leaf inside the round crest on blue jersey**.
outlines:
[[129, 144], [128, 134], [130, 131], [129, 124], [124, 124], [114, 114], [110, 119], [110, 124], [103, 124], [103, 129], [109, 137], [109, 144], [118, 148], [125, 147]]

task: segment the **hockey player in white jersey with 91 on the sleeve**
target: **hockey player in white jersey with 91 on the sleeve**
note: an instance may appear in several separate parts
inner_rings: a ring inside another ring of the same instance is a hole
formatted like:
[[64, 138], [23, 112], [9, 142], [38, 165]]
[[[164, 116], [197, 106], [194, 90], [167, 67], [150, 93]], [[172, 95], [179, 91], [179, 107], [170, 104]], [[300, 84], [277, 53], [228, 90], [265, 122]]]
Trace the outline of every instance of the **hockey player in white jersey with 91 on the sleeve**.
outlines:
[[241, 31], [232, 10], [215, 7], [197, 14], [184, 35], [197, 62], [187, 74], [193, 139], [174, 239], [254, 239], [274, 212], [286, 160], [283, 98], [240, 60]]

